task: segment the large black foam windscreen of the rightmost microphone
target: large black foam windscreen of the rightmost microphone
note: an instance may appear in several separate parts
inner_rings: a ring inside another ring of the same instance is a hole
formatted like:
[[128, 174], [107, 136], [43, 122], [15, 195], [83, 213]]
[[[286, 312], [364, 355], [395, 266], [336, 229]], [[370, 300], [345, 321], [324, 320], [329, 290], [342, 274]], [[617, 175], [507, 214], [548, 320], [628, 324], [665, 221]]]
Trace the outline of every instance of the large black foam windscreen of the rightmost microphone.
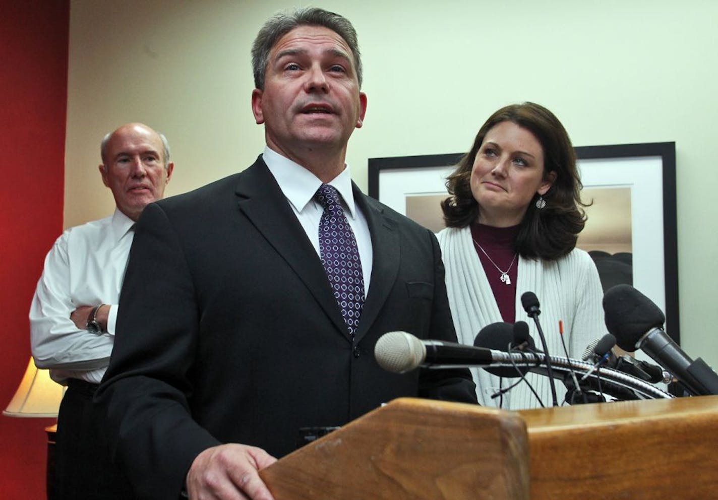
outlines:
[[640, 338], [666, 321], [663, 311], [650, 298], [630, 285], [616, 285], [603, 296], [606, 328], [616, 337], [617, 345], [633, 352]]

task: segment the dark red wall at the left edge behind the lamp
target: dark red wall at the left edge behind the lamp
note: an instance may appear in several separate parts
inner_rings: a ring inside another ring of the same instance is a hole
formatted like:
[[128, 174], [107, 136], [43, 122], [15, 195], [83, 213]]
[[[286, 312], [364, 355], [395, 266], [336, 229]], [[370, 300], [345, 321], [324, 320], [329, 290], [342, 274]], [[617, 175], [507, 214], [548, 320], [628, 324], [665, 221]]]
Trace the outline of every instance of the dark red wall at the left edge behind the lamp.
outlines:
[[[62, 232], [69, 24], [69, 0], [0, 0], [0, 410], [27, 365], [27, 312]], [[0, 415], [1, 498], [45, 498], [52, 423]]]

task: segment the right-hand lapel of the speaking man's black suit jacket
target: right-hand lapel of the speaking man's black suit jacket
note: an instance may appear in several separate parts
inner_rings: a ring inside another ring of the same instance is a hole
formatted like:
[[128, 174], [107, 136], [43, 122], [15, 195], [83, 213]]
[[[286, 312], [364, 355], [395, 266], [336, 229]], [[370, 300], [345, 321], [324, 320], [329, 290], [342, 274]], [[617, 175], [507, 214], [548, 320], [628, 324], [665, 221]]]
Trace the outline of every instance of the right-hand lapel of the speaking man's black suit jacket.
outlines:
[[366, 217], [371, 234], [372, 270], [364, 307], [355, 334], [357, 341], [369, 331], [396, 281], [399, 269], [399, 235], [396, 221], [384, 213], [383, 206], [363, 194], [353, 184], [354, 199]]

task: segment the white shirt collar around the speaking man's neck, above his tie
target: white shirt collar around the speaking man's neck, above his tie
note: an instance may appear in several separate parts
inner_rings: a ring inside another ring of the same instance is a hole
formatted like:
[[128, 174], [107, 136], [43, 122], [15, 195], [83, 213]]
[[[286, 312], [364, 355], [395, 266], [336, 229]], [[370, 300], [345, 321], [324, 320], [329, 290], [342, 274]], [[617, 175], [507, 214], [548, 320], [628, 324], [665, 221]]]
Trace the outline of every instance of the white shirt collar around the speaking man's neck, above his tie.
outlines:
[[[294, 206], [297, 212], [302, 212], [304, 207], [307, 207], [307, 204], [312, 201], [317, 189], [322, 185], [322, 181], [303, 166], [273, 151], [269, 146], [264, 148], [262, 159], [264, 159], [264, 163], [266, 163], [277, 184], [279, 184], [279, 188], [286, 196], [286, 199], [289, 199], [289, 203]], [[337, 189], [342, 199], [344, 199], [351, 216], [355, 217], [354, 194], [349, 166], [345, 165], [345, 169], [332, 179], [329, 184]]]

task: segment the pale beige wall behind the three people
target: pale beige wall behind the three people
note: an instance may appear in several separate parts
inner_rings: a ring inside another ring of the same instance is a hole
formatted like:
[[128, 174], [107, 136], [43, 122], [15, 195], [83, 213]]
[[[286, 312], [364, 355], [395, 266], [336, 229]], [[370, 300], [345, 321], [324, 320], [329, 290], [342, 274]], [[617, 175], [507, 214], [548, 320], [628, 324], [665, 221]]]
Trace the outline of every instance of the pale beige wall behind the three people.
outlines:
[[[251, 40], [286, 1], [73, 0], [65, 226], [109, 214], [98, 143], [127, 121], [163, 131], [167, 194], [251, 163]], [[368, 113], [350, 141], [367, 159], [470, 146], [485, 118], [533, 100], [574, 145], [676, 141], [681, 337], [718, 367], [715, 215], [718, 4], [712, 1], [326, 1], [359, 33]]]

